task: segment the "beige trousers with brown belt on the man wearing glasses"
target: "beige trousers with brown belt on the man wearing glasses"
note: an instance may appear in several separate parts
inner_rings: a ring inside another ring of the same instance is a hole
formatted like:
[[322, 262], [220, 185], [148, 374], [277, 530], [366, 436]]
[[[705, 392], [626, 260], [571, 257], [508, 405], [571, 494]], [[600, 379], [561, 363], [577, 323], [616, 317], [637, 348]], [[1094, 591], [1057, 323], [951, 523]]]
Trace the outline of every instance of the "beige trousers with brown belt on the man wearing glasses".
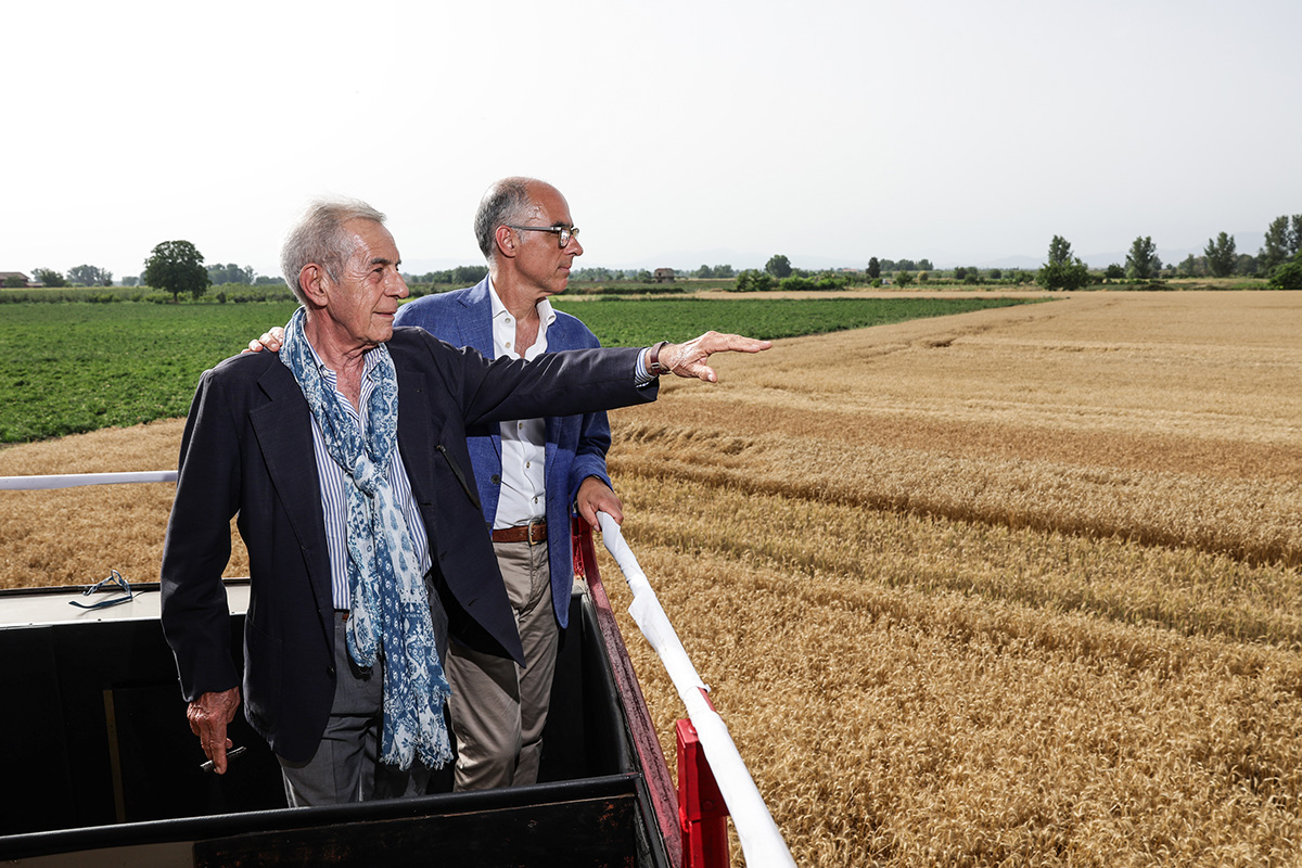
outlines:
[[457, 735], [454, 789], [486, 790], [538, 781], [543, 727], [556, 674], [560, 626], [552, 610], [547, 544], [493, 543], [525, 647], [525, 665], [456, 640], [445, 673]]

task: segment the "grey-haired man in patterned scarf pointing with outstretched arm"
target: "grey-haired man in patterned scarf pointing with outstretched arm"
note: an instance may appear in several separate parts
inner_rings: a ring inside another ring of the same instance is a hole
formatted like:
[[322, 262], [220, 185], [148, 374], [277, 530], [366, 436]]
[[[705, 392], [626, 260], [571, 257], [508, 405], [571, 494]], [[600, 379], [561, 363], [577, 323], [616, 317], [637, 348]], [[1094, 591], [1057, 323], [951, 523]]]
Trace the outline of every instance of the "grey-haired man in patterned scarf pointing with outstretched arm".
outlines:
[[221, 773], [241, 700], [221, 586], [238, 515], [245, 714], [290, 804], [423, 790], [419, 769], [450, 755], [448, 632], [522, 662], [467, 426], [651, 401], [665, 371], [712, 381], [711, 353], [767, 346], [708, 333], [490, 363], [395, 331], [406, 285], [383, 221], [362, 203], [322, 203], [290, 233], [281, 264], [302, 307], [279, 355], [234, 357], [201, 379], [164, 543], [163, 626], [190, 726]]

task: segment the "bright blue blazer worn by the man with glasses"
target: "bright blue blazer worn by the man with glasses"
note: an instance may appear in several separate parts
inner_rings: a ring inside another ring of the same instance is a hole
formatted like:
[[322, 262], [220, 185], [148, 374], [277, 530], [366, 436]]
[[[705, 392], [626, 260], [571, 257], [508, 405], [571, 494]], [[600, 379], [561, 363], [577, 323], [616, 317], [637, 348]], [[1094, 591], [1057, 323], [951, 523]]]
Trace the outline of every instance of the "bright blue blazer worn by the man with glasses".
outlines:
[[[398, 308], [393, 320], [400, 325], [419, 325], [453, 346], [473, 346], [484, 358], [493, 358], [492, 298], [488, 278], [469, 289], [417, 298]], [[582, 350], [600, 346], [596, 336], [577, 318], [556, 311], [547, 328], [547, 351]], [[570, 588], [574, 583], [569, 522], [579, 484], [596, 476], [607, 485], [605, 453], [611, 448], [611, 424], [605, 413], [577, 416], [548, 415], [543, 484], [547, 487], [547, 562], [552, 575], [552, 609], [564, 629], [569, 622]], [[501, 493], [501, 428], [471, 432], [470, 462], [483, 504], [484, 522], [492, 527]], [[612, 487], [613, 488], [613, 487]]]

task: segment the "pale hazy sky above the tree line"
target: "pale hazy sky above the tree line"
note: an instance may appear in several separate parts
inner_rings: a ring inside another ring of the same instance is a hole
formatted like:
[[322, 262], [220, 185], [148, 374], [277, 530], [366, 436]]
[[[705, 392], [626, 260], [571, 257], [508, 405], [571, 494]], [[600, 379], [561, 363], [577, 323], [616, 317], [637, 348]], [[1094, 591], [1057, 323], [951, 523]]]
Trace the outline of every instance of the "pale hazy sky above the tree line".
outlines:
[[[578, 267], [1170, 262], [1302, 213], [1298, 0], [42, 0], [0, 12], [0, 271], [277, 275], [320, 197], [482, 262], [509, 174]], [[1245, 245], [1242, 239], [1255, 236]]]

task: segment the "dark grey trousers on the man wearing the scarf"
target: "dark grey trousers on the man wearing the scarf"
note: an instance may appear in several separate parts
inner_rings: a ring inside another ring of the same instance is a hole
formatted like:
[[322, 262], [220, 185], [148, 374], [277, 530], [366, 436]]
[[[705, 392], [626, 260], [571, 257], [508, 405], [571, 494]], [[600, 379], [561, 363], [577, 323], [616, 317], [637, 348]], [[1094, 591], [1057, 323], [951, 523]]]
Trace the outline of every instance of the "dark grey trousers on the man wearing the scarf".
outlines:
[[[448, 617], [431, 593], [435, 640], [439, 656], [447, 656]], [[316, 753], [307, 763], [280, 760], [285, 778], [285, 799], [290, 807], [345, 804], [371, 799], [424, 795], [430, 769], [419, 760], [406, 772], [379, 761], [384, 725], [383, 662], [368, 669], [358, 666], [348, 653], [346, 613], [335, 613], [335, 704]]]

